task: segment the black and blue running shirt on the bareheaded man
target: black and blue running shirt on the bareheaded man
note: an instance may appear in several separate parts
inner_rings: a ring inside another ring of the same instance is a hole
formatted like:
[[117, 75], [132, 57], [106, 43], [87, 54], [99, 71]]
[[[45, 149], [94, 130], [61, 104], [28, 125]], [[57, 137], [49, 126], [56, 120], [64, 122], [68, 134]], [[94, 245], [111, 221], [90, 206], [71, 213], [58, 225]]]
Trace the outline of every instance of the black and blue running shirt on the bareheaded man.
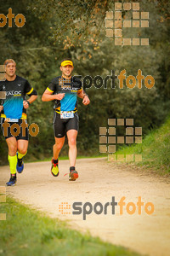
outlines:
[[14, 81], [0, 81], [0, 91], [6, 92], [6, 99], [1, 100], [3, 103], [2, 118], [26, 119], [26, 109], [23, 107], [23, 101], [26, 95], [37, 95], [37, 91], [31, 88], [26, 79], [16, 76]]

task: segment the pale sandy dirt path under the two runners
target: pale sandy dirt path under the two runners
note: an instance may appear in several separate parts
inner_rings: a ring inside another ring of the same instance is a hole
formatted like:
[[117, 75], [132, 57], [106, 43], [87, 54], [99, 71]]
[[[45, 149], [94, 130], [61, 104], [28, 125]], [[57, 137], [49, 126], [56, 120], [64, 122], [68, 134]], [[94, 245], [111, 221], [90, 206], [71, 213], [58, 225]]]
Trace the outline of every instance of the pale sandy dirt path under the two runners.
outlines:
[[[91, 235], [99, 236], [104, 241], [148, 255], [170, 255], [169, 183], [161, 177], [134, 172], [129, 167], [108, 164], [105, 159], [77, 160], [79, 178], [76, 182], [69, 182], [68, 175], [64, 176], [68, 167], [68, 160], [60, 160], [59, 177], [53, 177], [49, 172], [50, 162], [26, 164], [24, 172], [18, 174], [17, 185], [8, 187], [7, 194], [48, 212], [51, 217], [69, 219], [71, 226], [77, 230], [89, 230]], [[4, 186], [9, 177], [8, 166], [0, 168], [0, 177], [0, 186]], [[94, 206], [99, 201], [105, 205], [111, 202], [112, 196], [116, 201], [125, 196], [126, 205], [130, 201], [136, 204], [141, 196], [144, 204], [150, 201], [155, 205], [155, 212], [147, 215], [142, 208], [141, 215], [137, 210], [129, 215], [125, 206], [120, 215], [117, 206], [113, 215], [109, 206], [107, 215], [93, 212], [87, 215], [86, 220], [82, 220], [82, 214], [64, 215], [59, 212], [61, 202], [71, 205], [75, 201], [83, 204], [90, 202]]]

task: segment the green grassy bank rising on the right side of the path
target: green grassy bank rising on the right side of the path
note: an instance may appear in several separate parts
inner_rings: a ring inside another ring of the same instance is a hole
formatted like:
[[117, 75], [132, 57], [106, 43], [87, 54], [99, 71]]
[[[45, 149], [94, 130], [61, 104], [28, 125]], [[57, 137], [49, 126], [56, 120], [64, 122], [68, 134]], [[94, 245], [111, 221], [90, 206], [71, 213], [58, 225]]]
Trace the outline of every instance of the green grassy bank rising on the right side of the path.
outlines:
[[139, 166], [156, 170], [158, 174], [170, 173], [170, 116], [159, 129], [151, 131], [141, 144], [133, 144], [116, 151], [116, 154], [142, 154]]

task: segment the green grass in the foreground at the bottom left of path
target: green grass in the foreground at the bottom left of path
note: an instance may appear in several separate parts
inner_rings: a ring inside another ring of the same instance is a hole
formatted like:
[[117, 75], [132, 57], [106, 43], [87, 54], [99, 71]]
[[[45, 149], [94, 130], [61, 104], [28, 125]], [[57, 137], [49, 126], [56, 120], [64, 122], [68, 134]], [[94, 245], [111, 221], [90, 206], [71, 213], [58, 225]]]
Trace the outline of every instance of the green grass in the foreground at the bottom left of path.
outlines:
[[82, 235], [69, 229], [65, 222], [48, 218], [11, 198], [0, 204], [0, 212], [7, 213], [7, 220], [0, 221], [0, 255], [139, 255], [99, 238]]

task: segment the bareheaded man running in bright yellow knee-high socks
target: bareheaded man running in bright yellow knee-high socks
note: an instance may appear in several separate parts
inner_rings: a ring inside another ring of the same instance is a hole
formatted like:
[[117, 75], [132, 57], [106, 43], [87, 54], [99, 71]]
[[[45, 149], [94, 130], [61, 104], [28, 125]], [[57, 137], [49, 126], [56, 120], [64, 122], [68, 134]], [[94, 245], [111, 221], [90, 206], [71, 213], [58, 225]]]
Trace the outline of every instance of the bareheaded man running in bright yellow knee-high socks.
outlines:
[[[28, 128], [23, 128], [23, 122], [26, 125], [26, 108], [37, 99], [37, 91], [31, 88], [31, 84], [15, 74], [16, 63], [12, 59], [4, 62], [5, 79], [0, 81], [0, 91], [4, 92], [6, 97], [0, 102], [1, 125], [3, 136], [8, 144], [8, 162], [11, 177], [7, 183], [12, 186], [16, 183], [16, 170], [21, 173], [24, 169], [23, 157], [28, 148]], [[26, 95], [30, 96], [26, 100]], [[3, 104], [2, 104], [3, 103]], [[16, 128], [18, 127], [17, 131]], [[6, 128], [5, 128], [6, 127]], [[23, 129], [25, 131], [23, 131]], [[20, 131], [18, 135], [15, 134]]]

